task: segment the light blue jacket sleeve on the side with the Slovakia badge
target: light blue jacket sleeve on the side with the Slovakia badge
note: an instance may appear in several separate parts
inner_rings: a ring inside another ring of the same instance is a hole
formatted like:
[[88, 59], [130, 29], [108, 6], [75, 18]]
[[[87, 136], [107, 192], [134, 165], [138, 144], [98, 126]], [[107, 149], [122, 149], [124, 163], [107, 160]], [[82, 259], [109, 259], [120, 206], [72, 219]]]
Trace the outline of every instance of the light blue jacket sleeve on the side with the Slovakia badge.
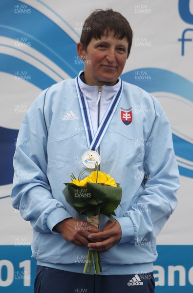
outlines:
[[155, 120], [145, 141], [144, 178], [141, 195], [123, 217], [117, 218], [122, 229], [119, 243], [136, 243], [155, 238], [177, 205], [179, 172], [173, 151], [171, 126], [153, 98]]

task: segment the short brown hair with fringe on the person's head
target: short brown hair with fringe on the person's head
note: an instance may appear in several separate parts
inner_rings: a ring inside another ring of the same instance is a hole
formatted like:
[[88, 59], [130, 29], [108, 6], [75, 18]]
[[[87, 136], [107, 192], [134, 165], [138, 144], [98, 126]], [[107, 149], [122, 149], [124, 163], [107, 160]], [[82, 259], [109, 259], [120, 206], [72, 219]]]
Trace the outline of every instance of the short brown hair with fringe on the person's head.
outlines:
[[89, 15], [83, 25], [80, 42], [86, 50], [92, 38], [98, 40], [105, 33], [108, 35], [108, 32], [111, 31], [114, 32], [114, 37], [120, 40], [123, 38], [128, 40], [127, 57], [129, 57], [133, 37], [132, 29], [126, 18], [112, 9], [97, 9]]

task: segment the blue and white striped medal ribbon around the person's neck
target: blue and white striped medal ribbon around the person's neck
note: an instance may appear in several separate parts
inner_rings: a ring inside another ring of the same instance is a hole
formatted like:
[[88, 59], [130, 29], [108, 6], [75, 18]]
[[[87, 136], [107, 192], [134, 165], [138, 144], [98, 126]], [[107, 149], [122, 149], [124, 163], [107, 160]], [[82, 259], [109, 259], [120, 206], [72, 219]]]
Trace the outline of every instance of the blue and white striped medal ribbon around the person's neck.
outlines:
[[100, 143], [107, 131], [110, 121], [113, 118], [116, 108], [119, 104], [119, 101], [121, 99], [121, 94], [123, 91], [123, 83], [121, 81], [119, 91], [112, 98], [112, 101], [110, 102], [110, 105], [108, 106], [107, 112], [104, 115], [95, 135], [92, 128], [92, 122], [91, 122], [87, 100], [83, 92], [81, 91], [80, 85], [78, 83], [78, 77], [76, 78], [75, 84], [76, 84], [76, 90], [78, 93], [79, 103], [81, 107], [83, 122], [84, 122], [85, 130], [86, 130], [87, 145], [90, 150], [96, 150], [100, 146]]

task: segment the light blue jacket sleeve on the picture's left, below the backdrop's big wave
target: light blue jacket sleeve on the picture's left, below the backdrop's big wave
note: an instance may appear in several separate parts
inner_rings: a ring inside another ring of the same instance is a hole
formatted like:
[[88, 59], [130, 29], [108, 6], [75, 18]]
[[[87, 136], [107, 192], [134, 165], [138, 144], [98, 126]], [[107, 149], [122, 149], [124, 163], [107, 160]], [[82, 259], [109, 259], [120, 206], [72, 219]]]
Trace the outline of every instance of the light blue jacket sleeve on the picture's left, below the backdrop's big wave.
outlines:
[[21, 124], [13, 160], [15, 173], [11, 201], [35, 231], [56, 233], [52, 230], [54, 226], [71, 215], [61, 202], [53, 198], [46, 176], [45, 95], [46, 90], [29, 108]]

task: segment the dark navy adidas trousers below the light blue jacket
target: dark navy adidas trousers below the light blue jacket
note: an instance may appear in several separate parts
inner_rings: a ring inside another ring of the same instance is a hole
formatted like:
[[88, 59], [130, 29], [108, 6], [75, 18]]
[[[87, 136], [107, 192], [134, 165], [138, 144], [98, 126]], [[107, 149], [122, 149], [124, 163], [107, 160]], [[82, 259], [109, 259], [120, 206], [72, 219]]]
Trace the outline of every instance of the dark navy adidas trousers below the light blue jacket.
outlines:
[[37, 266], [35, 293], [154, 293], [153, 273], [89, 275]]

